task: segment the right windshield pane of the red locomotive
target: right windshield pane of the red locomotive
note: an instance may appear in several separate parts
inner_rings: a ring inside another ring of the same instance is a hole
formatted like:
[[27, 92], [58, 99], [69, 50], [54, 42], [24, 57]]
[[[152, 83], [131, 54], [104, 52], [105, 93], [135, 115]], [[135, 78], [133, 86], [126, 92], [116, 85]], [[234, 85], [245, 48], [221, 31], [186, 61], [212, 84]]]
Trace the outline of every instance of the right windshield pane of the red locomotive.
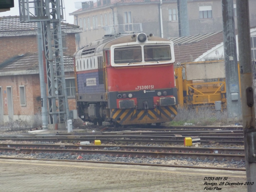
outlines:
[[170, 45], [145, 45], [144, 60], [145, 61], [164, 61], [171, 60]]

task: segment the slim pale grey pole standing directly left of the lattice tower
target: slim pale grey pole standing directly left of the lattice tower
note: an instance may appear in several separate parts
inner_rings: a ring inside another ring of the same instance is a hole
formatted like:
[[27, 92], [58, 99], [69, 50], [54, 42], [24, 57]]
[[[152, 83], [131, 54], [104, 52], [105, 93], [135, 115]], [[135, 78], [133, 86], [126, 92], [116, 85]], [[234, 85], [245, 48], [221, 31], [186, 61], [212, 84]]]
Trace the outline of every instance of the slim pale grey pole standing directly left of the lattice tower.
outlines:
[[41, 103], [42, 103], [42, 128], [48, 129], [47, 121], [47, 105], [46, 105], [46, 86], [44, 83], [44, 62], [43, 62], [43, 39], [42, 39], [42, 23], [37, 22], [37, 48], [38, 48], [38, 64], [39, 64], [39, 78], [41, 90]]

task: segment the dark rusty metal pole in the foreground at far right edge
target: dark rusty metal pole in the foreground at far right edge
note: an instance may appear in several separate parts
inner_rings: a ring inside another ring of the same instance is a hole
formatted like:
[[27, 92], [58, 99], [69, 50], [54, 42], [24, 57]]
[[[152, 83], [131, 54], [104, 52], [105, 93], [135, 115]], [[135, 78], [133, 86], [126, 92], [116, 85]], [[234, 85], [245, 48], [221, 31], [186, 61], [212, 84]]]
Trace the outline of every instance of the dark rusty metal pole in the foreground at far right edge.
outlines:
[[248, 192], [256, 191], [256, 129], [253, 101], [252, 57], [248, 0], [236, 0], [239, 64], [241, 76], [242, 110], [244, 125], [244, 150]]

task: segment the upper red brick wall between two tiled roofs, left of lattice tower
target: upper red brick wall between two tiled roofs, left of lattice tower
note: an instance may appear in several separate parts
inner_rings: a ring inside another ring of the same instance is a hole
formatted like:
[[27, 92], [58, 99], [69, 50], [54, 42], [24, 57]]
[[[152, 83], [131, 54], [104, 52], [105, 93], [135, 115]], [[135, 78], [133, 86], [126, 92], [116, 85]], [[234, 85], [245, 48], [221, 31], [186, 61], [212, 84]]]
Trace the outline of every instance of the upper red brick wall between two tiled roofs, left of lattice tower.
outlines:
[[0, 37], [0, 47], [0, 63], [2, 63], [15, 55], [37, 52], [37, 38], [35, 35]]

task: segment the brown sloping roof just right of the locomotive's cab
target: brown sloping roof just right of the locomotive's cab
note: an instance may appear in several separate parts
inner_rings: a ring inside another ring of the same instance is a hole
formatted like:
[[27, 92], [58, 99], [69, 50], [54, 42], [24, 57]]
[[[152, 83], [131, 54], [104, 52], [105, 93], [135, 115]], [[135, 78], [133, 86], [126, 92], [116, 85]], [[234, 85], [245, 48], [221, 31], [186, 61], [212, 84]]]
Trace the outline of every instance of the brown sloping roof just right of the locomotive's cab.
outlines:
[[205, 33], [170, 39], [174, 43], [175, 63], [191, 62], [223, 42], [223, 32]]

